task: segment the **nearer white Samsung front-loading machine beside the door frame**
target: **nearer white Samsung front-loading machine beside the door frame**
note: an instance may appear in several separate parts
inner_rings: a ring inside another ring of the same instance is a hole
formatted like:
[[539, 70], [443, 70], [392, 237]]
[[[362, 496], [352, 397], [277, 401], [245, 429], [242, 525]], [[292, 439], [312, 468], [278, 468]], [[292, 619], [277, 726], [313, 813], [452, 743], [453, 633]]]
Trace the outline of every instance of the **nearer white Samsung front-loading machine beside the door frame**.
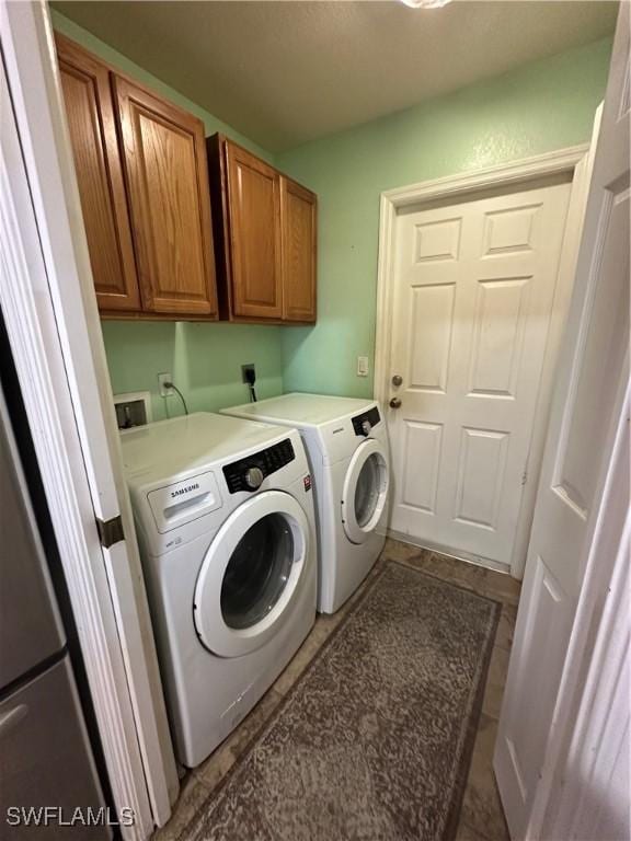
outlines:
[[221, 415], [121, 437], [175, 752], [194, 768], [313, 625], [309, 465], [295, 429]]

